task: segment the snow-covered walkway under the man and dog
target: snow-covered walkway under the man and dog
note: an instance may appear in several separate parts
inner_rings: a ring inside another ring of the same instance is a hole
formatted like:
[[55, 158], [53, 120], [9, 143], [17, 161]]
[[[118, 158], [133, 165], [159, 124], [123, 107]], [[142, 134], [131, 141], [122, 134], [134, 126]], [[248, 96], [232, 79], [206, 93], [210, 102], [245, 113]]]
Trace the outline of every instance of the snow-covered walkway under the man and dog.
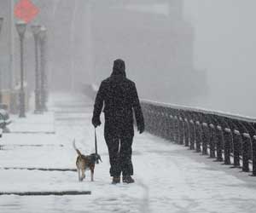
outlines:
[[[49, 112], [15, 118], [14, 133], [0, 141], [0, 193], [91, 191], [76, 196], [0, 196], [0, 212], [253, 212], [256, 178], [230, 169], [153, 135], [136, 135], [133, 145], [135, 184], [110, 184], [108, 150], [102, 130], [102, 164], [95, 181], [79, 182], [73, 171], [4, 170], [3, 168], [75, 169], [73, 138], [82, 153], [94, 151], [90, 124], [92, 103], [82, 95], [52, 95]], [[102, 118], [103, 121], [103, 118]]]

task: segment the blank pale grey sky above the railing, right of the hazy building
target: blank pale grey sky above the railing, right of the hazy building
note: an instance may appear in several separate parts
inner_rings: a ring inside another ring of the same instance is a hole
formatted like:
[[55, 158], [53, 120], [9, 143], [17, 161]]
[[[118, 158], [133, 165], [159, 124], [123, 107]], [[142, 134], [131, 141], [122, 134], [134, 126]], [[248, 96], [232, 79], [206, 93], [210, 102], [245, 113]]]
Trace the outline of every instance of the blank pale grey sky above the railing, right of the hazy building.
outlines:
[[195, 26], [195, 67], [210, 85], [195, 104], [256, 118], [256, 1], [185, 0], [184, 7]]

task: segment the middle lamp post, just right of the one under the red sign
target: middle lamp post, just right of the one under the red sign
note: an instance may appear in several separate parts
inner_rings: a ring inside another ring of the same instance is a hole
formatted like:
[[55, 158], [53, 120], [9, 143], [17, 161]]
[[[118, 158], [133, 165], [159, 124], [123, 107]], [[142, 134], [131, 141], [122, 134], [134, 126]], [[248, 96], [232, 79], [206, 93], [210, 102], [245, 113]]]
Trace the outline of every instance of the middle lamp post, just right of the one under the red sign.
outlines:
[[40, 76], [39, 76], [39, 65], [38, 65], [38, 40], [39, 40], [39, 32], [41, 30], [41, 26], [33, 25], [31, 26], [32, 33], [35, 39], [35, 113], [41, 113], [42, 109], [40, 106]]

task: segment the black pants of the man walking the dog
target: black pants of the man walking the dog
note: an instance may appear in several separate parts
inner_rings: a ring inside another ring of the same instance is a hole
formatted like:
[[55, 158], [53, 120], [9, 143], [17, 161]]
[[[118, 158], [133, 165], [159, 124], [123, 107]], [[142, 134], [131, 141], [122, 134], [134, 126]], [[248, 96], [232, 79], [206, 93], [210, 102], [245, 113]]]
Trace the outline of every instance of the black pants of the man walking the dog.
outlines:
[[132, 176], [133, 166], [131, 162], [133, 135], [106, 134], [105, 141], [108, 145], [110, 161], [110, 176]]

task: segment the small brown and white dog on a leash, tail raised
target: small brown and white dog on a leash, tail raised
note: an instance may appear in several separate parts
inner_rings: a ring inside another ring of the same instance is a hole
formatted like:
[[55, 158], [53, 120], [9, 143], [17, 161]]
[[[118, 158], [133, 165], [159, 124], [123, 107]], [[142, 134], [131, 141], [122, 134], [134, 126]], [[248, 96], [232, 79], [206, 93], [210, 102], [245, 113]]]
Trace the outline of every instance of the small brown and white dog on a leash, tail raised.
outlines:
[[78, 153], [77, 158], [77, 170], [79, 173], [79, 181], [83, 181], [85, 178], [85, 170], [90, 170], [90, 181], [93, 181], [94, 168], [95, 164], [98, 164], [99, 160], [102, 161], [102, 158], [97, 153], [92, 153], [90, 155], [83, 155], [80, 153], [79, 149], [76, 147], [75, 140], [73, 141], [73, 148]]

